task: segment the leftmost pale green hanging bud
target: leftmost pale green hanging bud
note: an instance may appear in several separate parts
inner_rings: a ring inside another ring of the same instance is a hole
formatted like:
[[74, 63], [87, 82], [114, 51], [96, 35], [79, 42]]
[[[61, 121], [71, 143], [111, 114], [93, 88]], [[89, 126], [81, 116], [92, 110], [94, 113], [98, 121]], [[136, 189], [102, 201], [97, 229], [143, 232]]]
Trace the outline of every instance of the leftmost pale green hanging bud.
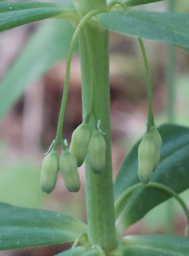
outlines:
[[40, 178], [41, 189], [50, 194], [55, 188], [58, 173], [58, 155], [56, 151], [51, 151], [42, 161], [42, 171]]

